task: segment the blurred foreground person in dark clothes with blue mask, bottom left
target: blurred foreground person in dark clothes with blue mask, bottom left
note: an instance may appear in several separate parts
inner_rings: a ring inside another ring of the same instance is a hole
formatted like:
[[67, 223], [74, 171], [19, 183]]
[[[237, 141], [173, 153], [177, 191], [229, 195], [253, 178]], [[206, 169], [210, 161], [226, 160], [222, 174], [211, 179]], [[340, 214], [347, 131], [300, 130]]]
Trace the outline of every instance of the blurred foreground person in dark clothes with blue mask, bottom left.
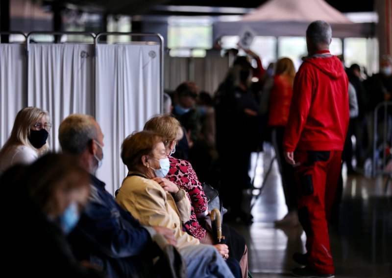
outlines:
[[8, 196], [1, 202], [3, 220], [12, 223], [4, 229], [9, 243], [2, 244], [3, 263], [15, 276], [105, 277], [92, 265], [82, 266], [66, 238], [90, 194], [89, 175], [73, 159], [49, 153], [30, 165], [15, 164], [0, 184]]

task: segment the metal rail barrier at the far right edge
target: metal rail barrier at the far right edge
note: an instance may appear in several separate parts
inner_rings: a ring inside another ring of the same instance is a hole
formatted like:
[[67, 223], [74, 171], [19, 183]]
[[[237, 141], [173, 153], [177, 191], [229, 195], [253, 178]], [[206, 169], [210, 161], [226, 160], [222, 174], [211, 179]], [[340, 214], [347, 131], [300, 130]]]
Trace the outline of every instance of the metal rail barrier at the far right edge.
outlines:
[[[381, 159], [382, 159], [382, 169], [378, 169], [377, 168], [377, 161], [380, 159], [380, 157], [377, 158], [377, 138], [378, 138], [378, 134], [377, 134], [377, 122], [378, 122], [378, 111], [381, 109], [381, 107], [384, 107], [384, 124], [383, 124], [383, 138], [382, 138], [382, 142], [381, 142], [381, 148], [384, 152], [384, 154], [382, 155]], [[391, 142], [387, 142], [387, 133], [388, 131], [388, 108], [392, 109], [392, 101], [383, 101], [381, 103], [379, 103], [376, 108], [374, 109], [374, 116], [373, 116], [373, 127], [374, 127], [374, 132], [373, 132], [373, 166], [372, 166], [372, 175], [373, 177], [375, 177], [377, 174], [389, 174], [391, 175], [391, 171], [387, 171], [385, 169], [386, 166], [386, 154], [385, 154], [385, 150], [387, 147], [387, 144]], [[390, 145], [390, 147], [392, 147]]]

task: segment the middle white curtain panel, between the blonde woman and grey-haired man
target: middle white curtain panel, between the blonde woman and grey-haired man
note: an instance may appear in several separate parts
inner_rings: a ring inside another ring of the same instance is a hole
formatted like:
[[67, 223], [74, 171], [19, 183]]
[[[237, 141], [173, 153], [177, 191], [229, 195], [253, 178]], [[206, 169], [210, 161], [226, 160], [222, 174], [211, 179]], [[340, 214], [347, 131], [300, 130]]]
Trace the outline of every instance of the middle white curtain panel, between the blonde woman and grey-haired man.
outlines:
[[47, 110], [52, 121], [49, 145], [60, 150], [58, 127], [73, 113], [94, 115], [94, 46], [31, 44], [27, 104]]

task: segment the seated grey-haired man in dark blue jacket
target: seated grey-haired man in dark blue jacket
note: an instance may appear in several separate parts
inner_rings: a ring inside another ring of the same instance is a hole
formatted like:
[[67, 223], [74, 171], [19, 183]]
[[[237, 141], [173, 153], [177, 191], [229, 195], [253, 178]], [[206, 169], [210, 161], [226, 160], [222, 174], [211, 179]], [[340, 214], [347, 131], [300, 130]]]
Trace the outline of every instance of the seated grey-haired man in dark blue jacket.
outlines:
[[62, 151], [90, 173], [89, 205], [69, 235], [75, 255], [99, 265], [110, 278], [170, 277], [169, 268], [178, 265], [166, 264], [166, 269], [165, 264], [160, 264], [158, 268], [153, 257], [160, 254], [155, 241], [160, 243], [162, 236], [176, 244], [172, 230], [142, 226], [117, 205], [105, 184], [95, 176], [103, 158], [103, 134], [95, 119], [83, 114], [68, 116], [60, 124], [59, 142]]

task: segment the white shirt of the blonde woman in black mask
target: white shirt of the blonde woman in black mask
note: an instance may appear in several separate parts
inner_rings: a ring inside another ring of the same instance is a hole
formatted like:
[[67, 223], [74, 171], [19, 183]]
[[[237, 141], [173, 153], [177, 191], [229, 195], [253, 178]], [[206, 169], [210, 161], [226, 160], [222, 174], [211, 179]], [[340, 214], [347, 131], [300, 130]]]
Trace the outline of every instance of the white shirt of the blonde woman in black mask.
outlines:
[[10, 149], [0, 161], [0, 175], [12, 165], [18, 163], [30, 164], [38, 158], [37, 151], [25, 145]]

